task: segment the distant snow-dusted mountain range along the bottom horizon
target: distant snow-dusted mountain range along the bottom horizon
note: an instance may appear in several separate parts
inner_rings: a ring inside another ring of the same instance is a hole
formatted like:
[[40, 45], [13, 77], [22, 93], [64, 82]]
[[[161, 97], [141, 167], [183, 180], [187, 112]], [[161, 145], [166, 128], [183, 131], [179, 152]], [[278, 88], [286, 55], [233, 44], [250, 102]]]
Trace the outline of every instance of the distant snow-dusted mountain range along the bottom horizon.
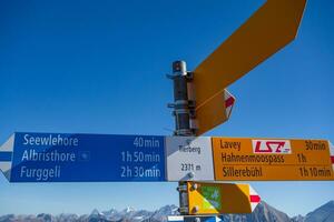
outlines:
[[[99, 212], [94, 210], [90, 214], [58, 214], [40, 213], [38, 215], [0, 216], [0, 222], [167, 222], [167, 215], [178, 215], [176, 205], [165, 205], [156, 211], [135, 210], [127, 208], [122, 211], [111, 209]], [[224, 214], [222, 222], [334, 222], [334, 201], [330, 201], [305, 216], [289, 218], [286, 213], [276, 210], [262, 201], [252, 214]]]

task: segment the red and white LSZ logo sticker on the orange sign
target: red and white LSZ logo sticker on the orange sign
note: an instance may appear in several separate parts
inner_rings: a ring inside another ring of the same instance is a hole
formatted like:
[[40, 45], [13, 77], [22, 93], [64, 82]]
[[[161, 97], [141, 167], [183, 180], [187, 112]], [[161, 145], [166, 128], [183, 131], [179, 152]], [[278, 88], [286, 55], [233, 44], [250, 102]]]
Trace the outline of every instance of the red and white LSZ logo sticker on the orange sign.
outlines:
[[289, 154], [292, 152], [288, 140], [252, 140], [254, 153]]

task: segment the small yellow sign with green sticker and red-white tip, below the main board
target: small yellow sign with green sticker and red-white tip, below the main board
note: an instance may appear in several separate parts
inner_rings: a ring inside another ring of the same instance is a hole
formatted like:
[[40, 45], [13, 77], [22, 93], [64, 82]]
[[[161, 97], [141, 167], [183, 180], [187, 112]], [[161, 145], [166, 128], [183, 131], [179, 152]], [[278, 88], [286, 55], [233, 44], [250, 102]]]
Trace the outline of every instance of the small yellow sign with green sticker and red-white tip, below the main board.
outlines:
[[261, 202], [248, 184], [187, 182], [188, 214], [252, 213]]

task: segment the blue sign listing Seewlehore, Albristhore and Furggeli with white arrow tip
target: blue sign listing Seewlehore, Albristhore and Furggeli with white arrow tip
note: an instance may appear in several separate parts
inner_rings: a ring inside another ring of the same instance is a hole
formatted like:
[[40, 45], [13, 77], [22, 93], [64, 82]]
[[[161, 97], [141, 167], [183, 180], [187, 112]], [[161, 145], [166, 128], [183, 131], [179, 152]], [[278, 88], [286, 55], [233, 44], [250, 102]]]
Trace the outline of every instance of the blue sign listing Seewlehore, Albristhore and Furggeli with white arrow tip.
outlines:
[[10, 182], [166, 181], [165, 138], [17, 132], [0, 169]]

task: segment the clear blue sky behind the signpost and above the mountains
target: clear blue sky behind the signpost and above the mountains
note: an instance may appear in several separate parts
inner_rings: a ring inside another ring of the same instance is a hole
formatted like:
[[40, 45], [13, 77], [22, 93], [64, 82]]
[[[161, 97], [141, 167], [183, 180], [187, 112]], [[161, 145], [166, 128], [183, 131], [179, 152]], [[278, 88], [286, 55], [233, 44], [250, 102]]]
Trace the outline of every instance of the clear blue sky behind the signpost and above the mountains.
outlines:
[[[174, 60], [200, 63], [264, 1], [1, 1], [0, 142], [14, 131], [170, 134]], [[334, 141], [334, 3], [310, 0], [297, 39], [230, 85], [222, 137]], [[169, 129], [169, 130], [168, 130]], [[334, 182], [254, 182], [289, 215], [334, 200]], [[176, 183], [9, 184], [0, 214], [177, 204]]]

